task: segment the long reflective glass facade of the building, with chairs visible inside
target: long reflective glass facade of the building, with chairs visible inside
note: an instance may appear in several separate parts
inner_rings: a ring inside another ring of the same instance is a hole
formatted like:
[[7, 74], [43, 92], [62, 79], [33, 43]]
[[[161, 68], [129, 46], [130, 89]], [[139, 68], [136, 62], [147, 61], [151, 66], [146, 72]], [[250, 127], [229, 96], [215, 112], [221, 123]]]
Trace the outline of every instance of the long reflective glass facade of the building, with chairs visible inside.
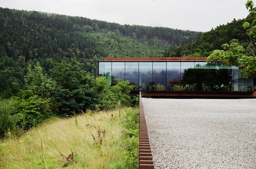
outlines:
[[109, 84], [129, 80], [134, 90], [253, 91], [253, 77], [206, 61], [99, 61], [99, 75]]

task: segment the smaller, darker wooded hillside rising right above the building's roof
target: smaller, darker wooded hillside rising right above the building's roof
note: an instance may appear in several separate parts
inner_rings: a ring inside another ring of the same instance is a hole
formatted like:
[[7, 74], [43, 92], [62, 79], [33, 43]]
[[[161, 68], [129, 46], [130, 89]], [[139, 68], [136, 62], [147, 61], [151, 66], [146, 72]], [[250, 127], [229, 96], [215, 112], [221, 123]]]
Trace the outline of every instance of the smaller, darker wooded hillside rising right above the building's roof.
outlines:
[[252, 23], [253, 18], [234, 19], [226, 25], [220, 25], [204, 34], [198, 33], [193, 43], [182, 43], [174, 49], [165, 49], [164, 57], [208, 57], [213, 50], [222, 50], [222, 44], [238, 42], [244, 48], [250, 43], [250, 37], [243, 28], [244, 22]]

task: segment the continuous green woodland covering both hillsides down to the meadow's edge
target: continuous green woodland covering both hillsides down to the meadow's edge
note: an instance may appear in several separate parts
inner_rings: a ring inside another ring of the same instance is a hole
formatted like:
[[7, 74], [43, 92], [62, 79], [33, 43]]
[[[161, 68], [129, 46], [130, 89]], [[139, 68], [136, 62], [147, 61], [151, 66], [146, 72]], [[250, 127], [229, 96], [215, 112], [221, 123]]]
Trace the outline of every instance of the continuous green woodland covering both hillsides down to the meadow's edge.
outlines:
[[245, 21], [202, 33], [0, 8], [0, 137], [51, 115], [136, 105], [129, 82], [97, 77], [99, 60], [208, 57], [227, 42], [247, 48]]

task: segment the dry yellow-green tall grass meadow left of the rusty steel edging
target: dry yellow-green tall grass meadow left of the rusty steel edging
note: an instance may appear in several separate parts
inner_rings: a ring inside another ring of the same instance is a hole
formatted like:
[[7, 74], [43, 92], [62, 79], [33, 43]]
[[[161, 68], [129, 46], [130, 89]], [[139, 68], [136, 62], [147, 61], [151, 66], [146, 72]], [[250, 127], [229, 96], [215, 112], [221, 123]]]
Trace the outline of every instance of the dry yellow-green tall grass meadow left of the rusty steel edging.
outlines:
[[129, 168], [120, 129], [136, 128], [131, 118], [137, 116], [138, 110], [122, 108], [48, 119], [22, 137], [0, 140], [0, 168]]

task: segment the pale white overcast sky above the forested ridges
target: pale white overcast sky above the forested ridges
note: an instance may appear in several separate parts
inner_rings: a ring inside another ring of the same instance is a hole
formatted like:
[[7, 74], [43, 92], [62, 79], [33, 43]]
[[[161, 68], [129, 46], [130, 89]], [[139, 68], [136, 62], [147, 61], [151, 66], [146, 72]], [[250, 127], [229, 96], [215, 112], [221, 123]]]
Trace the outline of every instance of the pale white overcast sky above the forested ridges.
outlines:
[[107, 22], [210, 31], [246, 18], [247, 0], [0, 0], [9, 9], [81, 16]]

